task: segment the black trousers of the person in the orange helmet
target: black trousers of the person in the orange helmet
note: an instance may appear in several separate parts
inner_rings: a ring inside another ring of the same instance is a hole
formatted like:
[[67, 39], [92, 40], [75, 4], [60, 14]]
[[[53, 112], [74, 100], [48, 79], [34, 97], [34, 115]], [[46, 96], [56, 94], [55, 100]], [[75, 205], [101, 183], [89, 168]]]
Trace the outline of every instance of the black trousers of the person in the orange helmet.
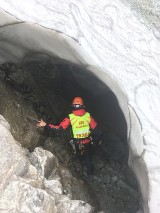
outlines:
[[86, 168], [87, 176], [93, 175], [94, 174], [93, 145], [91, 144], [91, 142], [82, 145], [80, 141], [75, 141], [75, 147], [76, 147], [76, 155], [79, 158], [82, 167]]

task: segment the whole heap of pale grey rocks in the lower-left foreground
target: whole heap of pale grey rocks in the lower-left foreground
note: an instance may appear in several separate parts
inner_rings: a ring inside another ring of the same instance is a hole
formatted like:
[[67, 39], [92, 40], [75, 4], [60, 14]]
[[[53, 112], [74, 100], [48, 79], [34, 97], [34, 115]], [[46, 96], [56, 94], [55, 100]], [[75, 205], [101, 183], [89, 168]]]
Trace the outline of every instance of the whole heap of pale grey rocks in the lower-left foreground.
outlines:
[[[44, 178], [49, 176], [54, 166], [59, 166], [56, 157], [41, 147], [29, 154], [28, 150], [14, 141], [9, 128], [0, 116], [0, 212], [93, 212], [89, 204], [62, 195], [60, 177], [55, 176], [52, 180]], [[30, 164], [26, 154], [35, 166]]]

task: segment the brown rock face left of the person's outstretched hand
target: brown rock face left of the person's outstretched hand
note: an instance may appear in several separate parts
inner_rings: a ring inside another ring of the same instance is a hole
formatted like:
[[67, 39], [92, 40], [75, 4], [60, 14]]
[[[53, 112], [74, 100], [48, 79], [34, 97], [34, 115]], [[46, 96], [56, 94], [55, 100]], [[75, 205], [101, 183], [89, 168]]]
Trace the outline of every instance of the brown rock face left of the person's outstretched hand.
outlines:
[[4, 82], [0, 84], [0, 98], [1, 113], [10, 123], [13, 137], [24, 147], [33, 150], [39, 141], [36, 124], [27, 120], [28, 115], [33, 118], [37, 116], [33, 107], [22, 98], [20, 100]]

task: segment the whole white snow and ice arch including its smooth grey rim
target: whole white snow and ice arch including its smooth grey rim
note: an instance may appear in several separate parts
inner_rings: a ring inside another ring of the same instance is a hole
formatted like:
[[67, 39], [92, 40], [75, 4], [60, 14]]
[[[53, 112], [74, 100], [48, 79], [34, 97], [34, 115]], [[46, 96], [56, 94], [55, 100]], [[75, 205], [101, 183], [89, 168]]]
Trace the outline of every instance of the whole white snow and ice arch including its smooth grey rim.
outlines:
[[1, 0], [0, 63], [56, 57], [118, 98], [144, 212], [160, 212], [160, 33], [119, 0]]

